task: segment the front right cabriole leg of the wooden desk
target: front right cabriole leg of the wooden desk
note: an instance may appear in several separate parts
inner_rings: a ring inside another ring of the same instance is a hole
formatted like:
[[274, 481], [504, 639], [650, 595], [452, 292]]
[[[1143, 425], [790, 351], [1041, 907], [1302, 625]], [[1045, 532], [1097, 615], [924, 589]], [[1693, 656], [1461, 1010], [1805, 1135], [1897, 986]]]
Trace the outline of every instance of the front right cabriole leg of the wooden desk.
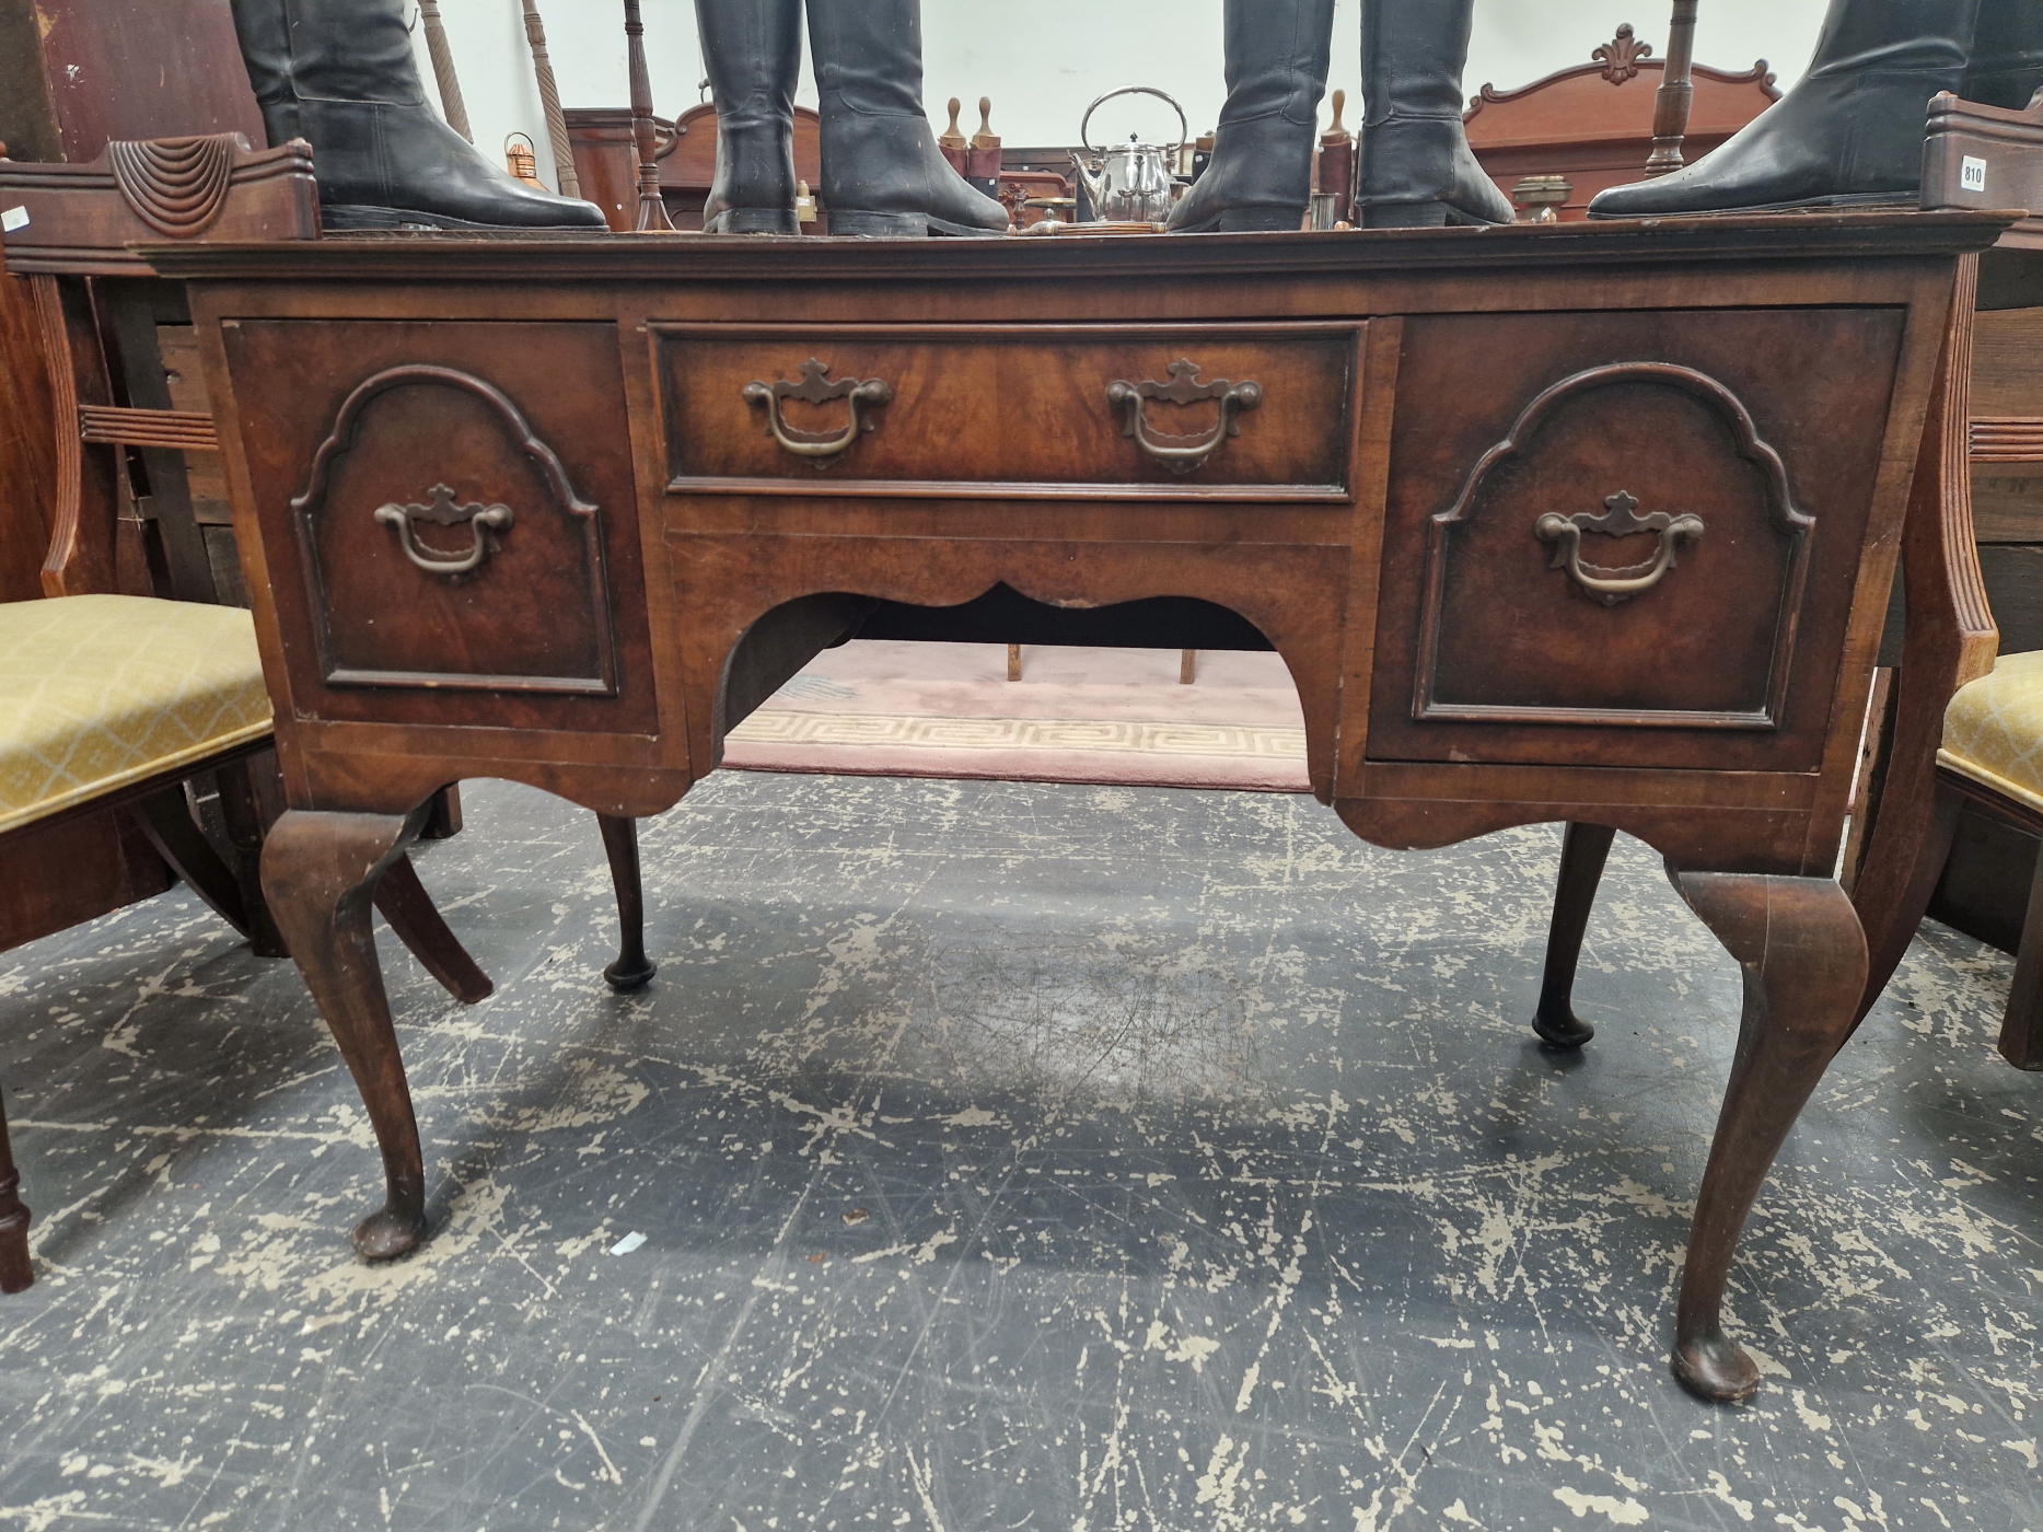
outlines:
[[1681, 1271], [1673, 1375], [1704, 1399], [1747, 1399], [1759, 1369], [1722, 1330], [1724, 1279], [1773, 1156], [1851, 1036], [1865, 931], [1828, 878], [1675, 872], [1675, 889], [1745, 968], [1739, 1052]]

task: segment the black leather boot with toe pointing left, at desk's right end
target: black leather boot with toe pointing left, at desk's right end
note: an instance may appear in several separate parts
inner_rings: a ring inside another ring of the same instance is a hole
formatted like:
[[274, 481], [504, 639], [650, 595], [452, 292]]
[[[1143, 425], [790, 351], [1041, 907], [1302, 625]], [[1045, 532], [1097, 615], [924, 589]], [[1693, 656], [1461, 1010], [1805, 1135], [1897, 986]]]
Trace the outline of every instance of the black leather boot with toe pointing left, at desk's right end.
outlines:
[[1781, 100], [1694, 165], [1600, 192], [1589, 217], [1912, 202], [1929, 98], [1963, 84], [1978, 10], [1980, 0], [1831, 0], [1816, 57]]

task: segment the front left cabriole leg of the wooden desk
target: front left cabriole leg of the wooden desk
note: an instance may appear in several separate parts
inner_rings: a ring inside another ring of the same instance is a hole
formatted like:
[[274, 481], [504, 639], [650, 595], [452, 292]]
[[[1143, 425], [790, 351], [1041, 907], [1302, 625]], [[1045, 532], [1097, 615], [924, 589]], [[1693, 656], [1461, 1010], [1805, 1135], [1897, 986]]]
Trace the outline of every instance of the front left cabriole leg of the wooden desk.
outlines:
[[425, 1234], [419, 1121], [370, 925], [376, 882], [405, 856], [423, 821], [425, 805], [409, 815], [292, 809], [276, 821], [262, 854], [270, 909], [333, 1027], [382, 1148], [388, 1199], [353, 1232], [368, 1260], [400, 1256]]

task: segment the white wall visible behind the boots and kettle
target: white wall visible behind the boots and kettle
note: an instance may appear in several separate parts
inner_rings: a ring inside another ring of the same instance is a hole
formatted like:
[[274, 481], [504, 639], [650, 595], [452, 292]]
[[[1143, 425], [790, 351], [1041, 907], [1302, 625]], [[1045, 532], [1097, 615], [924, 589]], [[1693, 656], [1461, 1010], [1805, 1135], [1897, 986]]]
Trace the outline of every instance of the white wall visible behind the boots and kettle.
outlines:
[[[1357, 100], [1357, 8], [1338, 0], [1334, 69], [1328, 82]], [[1073, 143], [1095, 96], [1126, 84], [1158, 86], [1185, 104], [1191, 131], [1214, 125], [1226, 94], [1220, 78], [1222, 0], [923, 0], [923, 71], [930, 114], [942, 125], [944, 100], [993, 98], [993, 129], [1009, 145]], [[566, 106], [625, 106], [623, 6], [615, 0], [539, 0], [560, 100]], [[674, 116], [697, 100], [703, 78], [688, 0], [646, 0], [646, 55], [654, 110]], [[1608, 41], [1618, 22], [1665, 51], [1667, 0], [1477, 0], [1475, 39], [1463, 76], [1467, 94], [1483, 82], [1526, 86]], [[1788, 86], [1808, 61], [1824, 0], [1710, 0], [1696, 29], [1696, 59], [1745, 69], [1765, 57]], [[539, 178], [554, 182], [539, 92], [525, 47], [523, 0], [441, 0], [447, 41], [462, 76], [462, 96], [476, 143], [498, 155], [505, 135], [523, 131], [539, 149]], [[419, 71], [433, 90], [425, 39], [417, 35]], [[803, 63], [797, 100], [815, 102]], [[1326, 108], [1322, 108], [1324, 118]], [[1350, 106], [1348, 125], [1359, 116]], [[964, 127], [977, 127], [977, 110]], [[1140, 131], [1165, 137], [1177, 123], [1169, 106], [1144, 98], [1115, 102], [1093, 123], [1093, 141]]]

